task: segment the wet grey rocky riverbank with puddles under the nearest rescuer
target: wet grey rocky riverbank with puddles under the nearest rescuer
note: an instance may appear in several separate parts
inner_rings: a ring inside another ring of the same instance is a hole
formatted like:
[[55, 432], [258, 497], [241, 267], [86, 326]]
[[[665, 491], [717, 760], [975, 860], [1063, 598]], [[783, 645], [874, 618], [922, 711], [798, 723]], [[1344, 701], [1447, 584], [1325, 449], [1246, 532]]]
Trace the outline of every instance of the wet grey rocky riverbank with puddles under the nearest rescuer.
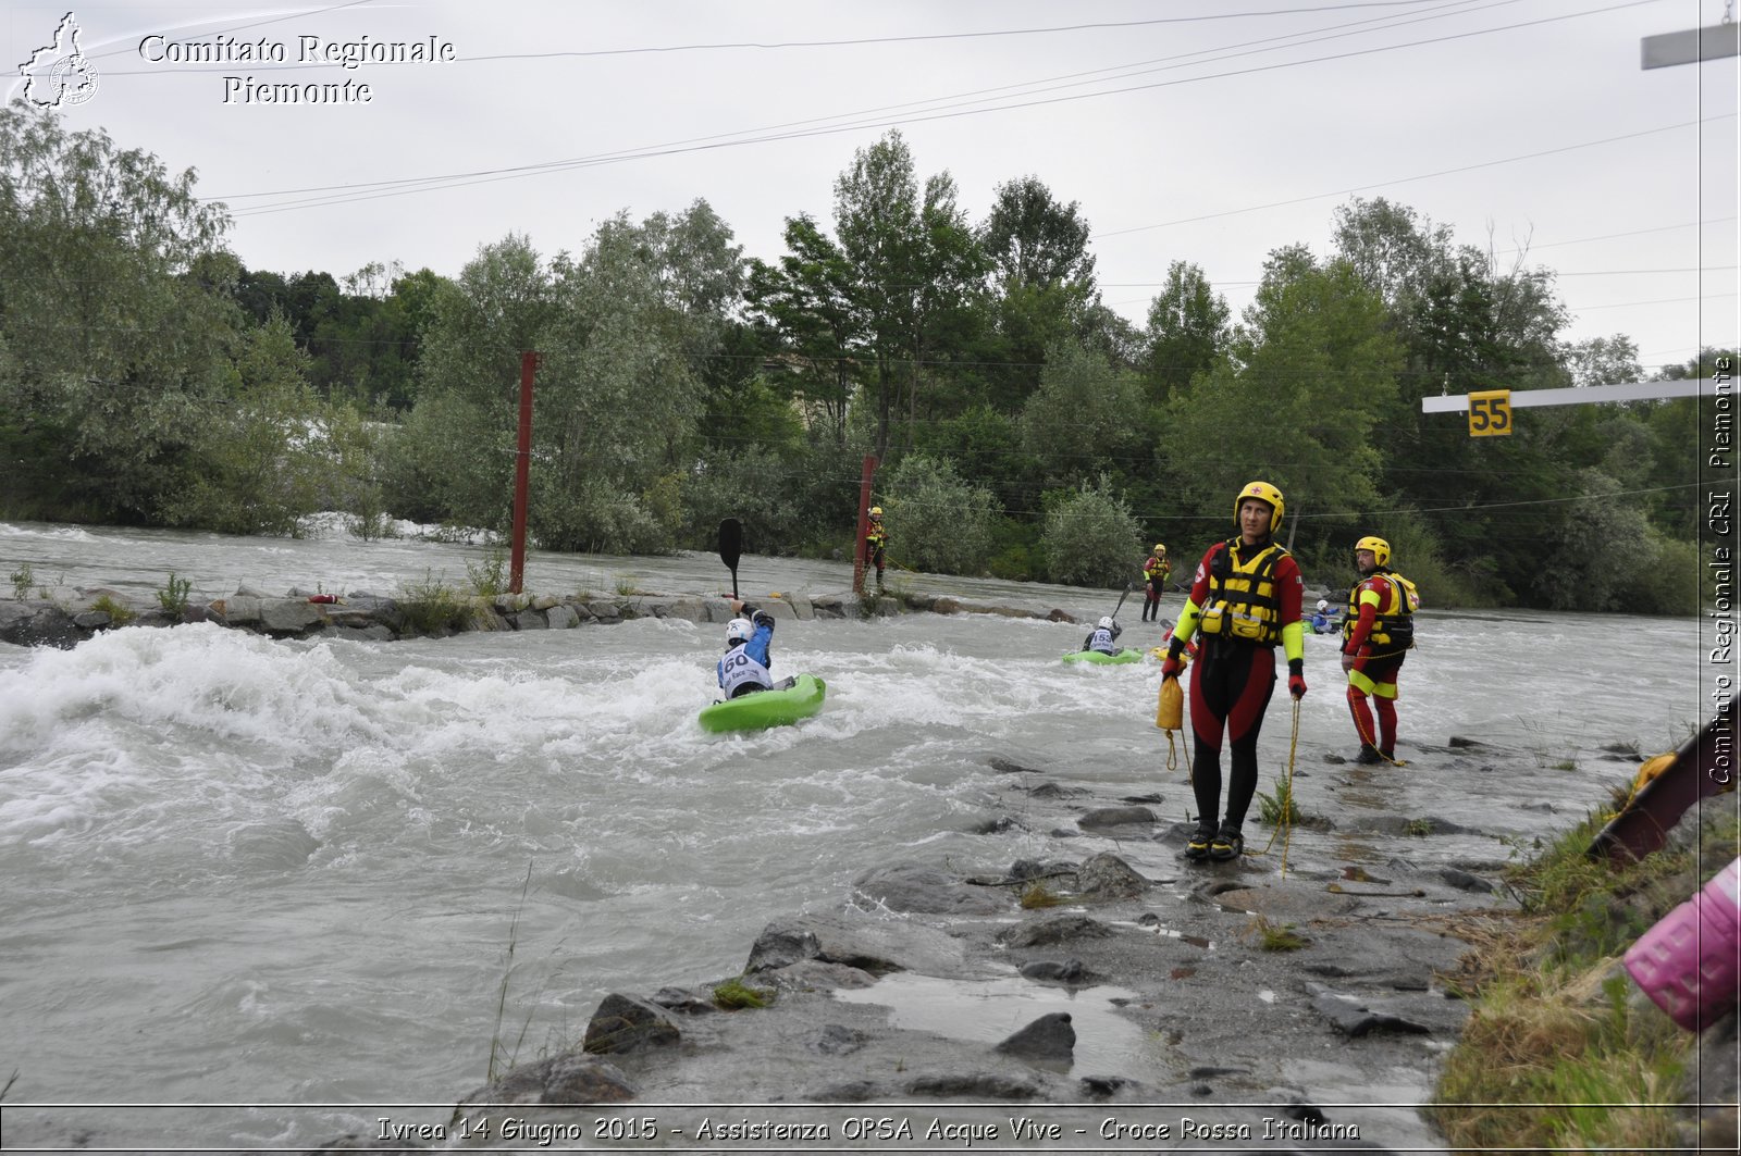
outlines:
[[[1382, 773], [1508, 754], [1450, 745]], [[1449, 825], [1354, 804], [1381, 771], [1337, 756], [1307, 773], [1349, 801], [1346, 841], [1271, 841], [1254, 813], [1227, 864], [1184, 862], [1187, 827], [1156, 797], [991, 766], [994, 827], [1067, 858], [870, 867], [714, 980], [608, 996], [571, 1050], [447, 1121], [333, 1147], [1443, 1151], [1417, 1106], [1468, 1013], [1445, 978], [1464, 937], [1515, 911], [1502, 862], [1428, 865]]]

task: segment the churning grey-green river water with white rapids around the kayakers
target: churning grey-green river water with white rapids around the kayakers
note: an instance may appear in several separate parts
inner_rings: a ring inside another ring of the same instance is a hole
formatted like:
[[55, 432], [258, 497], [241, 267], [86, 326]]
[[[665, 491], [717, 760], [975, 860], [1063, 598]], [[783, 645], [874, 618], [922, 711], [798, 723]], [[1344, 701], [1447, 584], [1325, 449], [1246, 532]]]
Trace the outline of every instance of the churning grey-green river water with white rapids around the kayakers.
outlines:
[[[0, 569], [28, 562], [38, 585], [145, 604], [171, 571], [207, 599], [240, 583], [392, 594], [425, 576], [463, 585], [486, 559], [343, 534], [0, 524]], [[839, 562], [738, 568], [749, 597], [850, 578]], [[1078, 616], [1118, 599], [897, 581]], [[534, 552], [526, 581], [729, 585], [707, 554]], [[1160, 641], [1130, 604], [1121, 620], [1125, 644]], [[1457, 776], [1396, 776], [1389, 808], [1482, 832], [1426, 839], [1419, 858], [1504, 860], [1631, 776], [1635, 761], [1603, 745], [1678, 745], [1699, 717], [1696, 632], [1691, 618], [1422, 611], [1400, 754], [1454, 735], [1502, 754]], [[444, 1119], [439, 1106], [484, 1083], [493, 1039], [528, 1060], [578, 1039], [609, 991], [733, 975], [770, 917], [830, 909], [874, 865], [1079, 857], [1020, 823], [982, 834], [1018, 806], [992, 759], [1107, 801], [1160, 792], [1166, 820], [1191, 808], [1153, 726], [1158, 669], [1060, 663], [1083, 627], [782, 622], [776, 674], [822, 675], [827, 707], [752, 736], [695, 722], [721, 634], [639, 620], [360, 644], [192, 625], [71, 651], [0, 646], [0, 1081], [17, 1071], [5, 1146], [296, 1151], [369, 1128], [374, 1111], [343, 1106], [430, 1104]], [[1332, 639], [1307, 639], [1307, 813], [1328, 808], [1314, 797], [1325, 752], [1354, 749], [1334, 663]], [[1260, 790], [1287, 766], [1288, 722], [1278, 696]], [[1332, 837], [1299, 830], [1297, 862]], [[122, 1119], [85, 1107], [97, 1104], [181, 1107]]]

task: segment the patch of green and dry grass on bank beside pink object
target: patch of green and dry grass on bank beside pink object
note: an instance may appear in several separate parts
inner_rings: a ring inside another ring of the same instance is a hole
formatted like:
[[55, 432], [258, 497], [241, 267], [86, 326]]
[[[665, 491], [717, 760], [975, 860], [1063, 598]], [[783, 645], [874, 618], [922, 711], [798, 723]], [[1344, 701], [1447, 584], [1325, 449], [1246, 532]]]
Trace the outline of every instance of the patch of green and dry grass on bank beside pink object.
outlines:
[[1537, 843], [1534, 858], [1506, 870], [1518, 916], [1455, 928], [1473, 951], [1442, 978], [1475, 1008], [1426, 1114], [1457, 1151], [1680, 1142], [1677, 1106], [1697, 1038], [1633, 998], [1619, 956], [1734, 858], [1738, 823], [1706, 827], [1704, 864], [1664, 848], [1617, 865], [1584, 855], [1603, 818]]

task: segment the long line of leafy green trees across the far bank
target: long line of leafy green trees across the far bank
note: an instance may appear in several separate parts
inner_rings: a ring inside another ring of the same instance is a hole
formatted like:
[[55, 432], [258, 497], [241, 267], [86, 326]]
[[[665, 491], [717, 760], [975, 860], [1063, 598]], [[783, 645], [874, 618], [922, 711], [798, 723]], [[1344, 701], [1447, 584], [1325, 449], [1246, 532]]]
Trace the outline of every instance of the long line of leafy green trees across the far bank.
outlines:
[[508, 235], [451, 279], [247, 270], [228, 226], [192, 172], [0, 111], [3, 515], [507, 529], [536, 350], [550, 548], [705, 548], [731, 515], [761, 552], [848, 552], [876, 454], [914, 569], [1123, 585], [1153, 541], [1189, 566], [1262, 477], [1313, 581], [1379, 533], [1438, 606], [1697, 606], [1696, 404], [1522, 409], [1504, 439], [1422, 414], [1644, 373], [1624, 336], [1563, 339], [1551, 270], [1382, 198], [1321, 254], [1273, 251], [1240, 319], [1173, 261], [1140, 327], [1100, 299], [1078, 204], [1020, 176], [971, 221], [898, 132], [770, 259], [705, 200], [571, 249]]

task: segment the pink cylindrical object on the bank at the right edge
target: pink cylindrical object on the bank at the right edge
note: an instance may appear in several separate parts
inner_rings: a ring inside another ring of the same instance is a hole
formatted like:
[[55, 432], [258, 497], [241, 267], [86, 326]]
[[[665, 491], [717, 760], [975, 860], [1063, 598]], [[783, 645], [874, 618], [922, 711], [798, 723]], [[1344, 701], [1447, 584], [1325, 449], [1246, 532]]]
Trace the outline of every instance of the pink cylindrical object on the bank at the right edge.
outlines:
[[1741, 858], [1663, 916], [1626, 951], [1633, 982], [1685, 1027], [1703, 1031], [1741, 985]]

